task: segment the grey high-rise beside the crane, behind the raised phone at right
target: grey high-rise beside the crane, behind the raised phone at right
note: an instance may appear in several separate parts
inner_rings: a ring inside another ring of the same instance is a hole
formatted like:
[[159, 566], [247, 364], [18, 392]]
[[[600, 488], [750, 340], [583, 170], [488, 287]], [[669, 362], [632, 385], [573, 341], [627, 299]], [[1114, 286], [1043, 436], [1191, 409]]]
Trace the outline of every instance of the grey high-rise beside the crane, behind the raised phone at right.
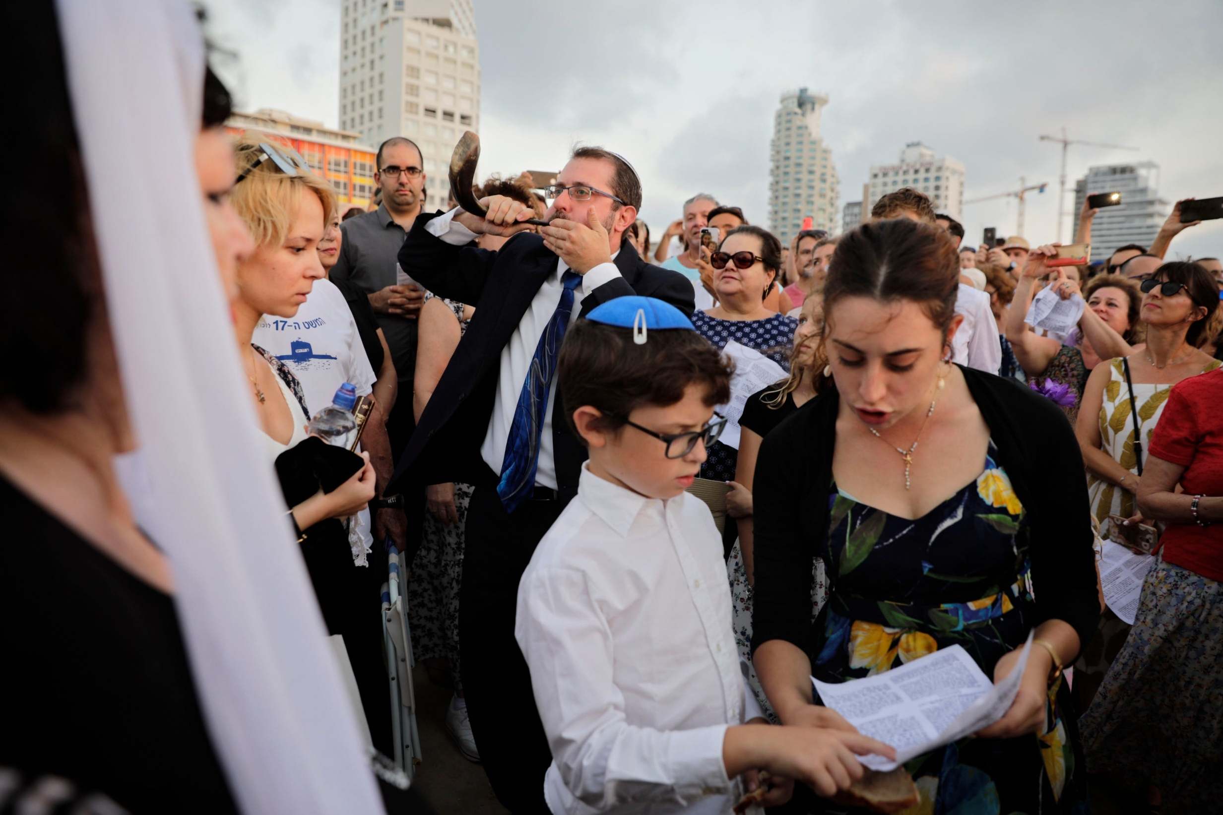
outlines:
[[[1091, 260], [1104, 260], [1119, 246], [1137, 243], [1150, 247], [1159, 226], [1168, 217], [1168, 202], [1159, 198], [1159, 165], [1155, 161], [1104, 164], [1087, 169], [1075, 181], [1074, 211], [1082, 200], [1098, 192], [1119, 192], [1118, 206], [1104, 206], [1091, 222]], [[1075, 216], [1077, 225], [1077, 215]]]

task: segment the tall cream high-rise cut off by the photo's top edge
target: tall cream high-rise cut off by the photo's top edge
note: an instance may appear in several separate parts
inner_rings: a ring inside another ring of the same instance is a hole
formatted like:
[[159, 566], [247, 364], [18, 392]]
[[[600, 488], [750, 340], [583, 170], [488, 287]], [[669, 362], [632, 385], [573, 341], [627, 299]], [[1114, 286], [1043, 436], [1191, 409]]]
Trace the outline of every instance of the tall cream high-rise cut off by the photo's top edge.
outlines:
[[471, 0], [340, 0], [340, 127], [369, 144], [406, 136], [424, 155], [424, 206], [445, 206], [450, 153], [479, 128]]

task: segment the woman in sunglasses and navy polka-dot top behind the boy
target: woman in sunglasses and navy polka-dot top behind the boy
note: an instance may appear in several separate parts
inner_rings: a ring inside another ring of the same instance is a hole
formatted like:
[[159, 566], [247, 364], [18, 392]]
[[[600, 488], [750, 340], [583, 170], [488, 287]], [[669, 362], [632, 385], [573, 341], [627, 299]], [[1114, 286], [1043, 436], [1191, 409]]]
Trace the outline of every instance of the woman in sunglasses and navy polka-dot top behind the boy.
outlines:
[[[781, 269], [780, 241], [767, 230], [744, 225], [723, 238], [709, 264], [718, 304], [692, 315], [697, 332], [718, 348], [734, 340], [790, 370], [790, 348], [799, 320], [778, 314], [764, 303], [777, 287]], [[701, 467], [701, 478], [734, 480], [736, 458], [734, 447], [714, 442]], [[734, 524], [728, 529], [733, 530]]]

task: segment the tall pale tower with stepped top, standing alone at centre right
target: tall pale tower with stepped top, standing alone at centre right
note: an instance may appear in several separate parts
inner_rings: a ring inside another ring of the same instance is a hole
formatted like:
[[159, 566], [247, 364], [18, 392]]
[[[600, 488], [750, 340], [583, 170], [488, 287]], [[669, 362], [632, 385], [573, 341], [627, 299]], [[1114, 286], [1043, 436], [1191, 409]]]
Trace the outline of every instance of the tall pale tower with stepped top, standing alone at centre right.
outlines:
[[819, 112], [828, 97], [806, 88], [781, 95], [773, 116], [769, 172], [769, 225], [789, 246], [811, 217], [812, 227], [834, 232], [839, 226], [839, 196], [833, 150], [819, 136]]

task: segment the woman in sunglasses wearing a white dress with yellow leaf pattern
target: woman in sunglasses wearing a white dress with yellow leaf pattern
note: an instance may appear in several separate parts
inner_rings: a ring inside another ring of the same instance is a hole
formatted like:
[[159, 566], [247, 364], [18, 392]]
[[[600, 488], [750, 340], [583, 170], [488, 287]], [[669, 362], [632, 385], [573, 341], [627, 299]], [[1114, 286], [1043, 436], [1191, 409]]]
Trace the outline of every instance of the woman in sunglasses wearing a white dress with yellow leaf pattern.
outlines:
[[[1139, 512], [1135, 496], [1168, 393], [1177, 382], [1223, 364], [1195, 347], [1218, 308], [1208, 271], [1195, 263], [1166, 263], [1142, 281], [1141, 290], [1146, 347], [1096, 367], [1075, 425], [1087, 466], [1091, 512], [1099, 523], [1120, 516], [1130, 524], [1151, 524]], [[1074, 694], [1080, 710], [1091, 703], [1129, 630], [1104, 609], [1099, 635], [1075, 665]]]

